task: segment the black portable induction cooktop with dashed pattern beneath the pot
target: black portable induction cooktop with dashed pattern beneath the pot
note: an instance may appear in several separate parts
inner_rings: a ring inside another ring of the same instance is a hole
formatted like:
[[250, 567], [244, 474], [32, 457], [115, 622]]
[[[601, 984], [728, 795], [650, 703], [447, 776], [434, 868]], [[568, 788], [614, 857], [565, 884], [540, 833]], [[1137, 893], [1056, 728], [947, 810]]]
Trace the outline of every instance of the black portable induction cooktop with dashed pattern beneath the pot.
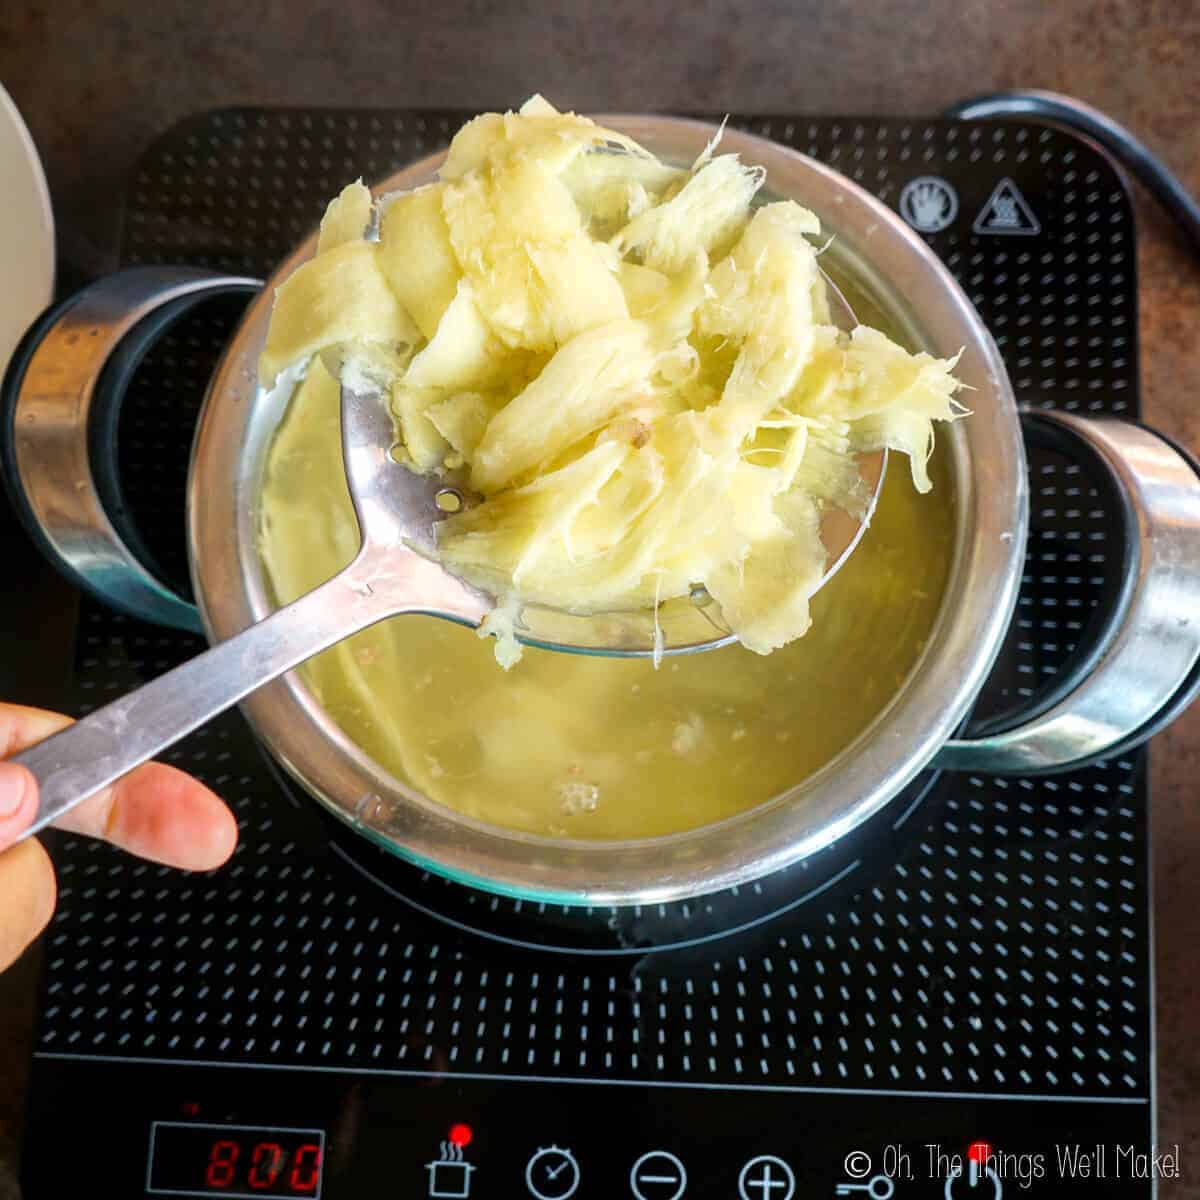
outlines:
[[[347, 179], [460, 120], [196, 116], [144, 157], [124, 259], [265, 275]], [[1020, 122], [737, 124], [923, 226], [1025, 403], [1136, 415], [1132, 211], [1093, 148]], [[121, 418], [130, 511], [178, 581], [190, 431], [236, 308], [168, 335]], [[1031, 472], [1027, 576], [983, 712], [1056, 674], [1120, 559], [1085, 468], [1039, 450]], [[85, 600], [62, 707], [199, 648]], [[407, 865], [332, 828], [238, 714], [168, 757], [229, 799], [241, 845], [188, 876], [56, 839], [26, 1196], [92, 1194], [97, 1164], [124, 1196], [1151, 1194], [1140, 754], [926, 776], [824, 858], [637, 910]], [[1108, 1156], [1090, 1176], [1076, 1142]]]

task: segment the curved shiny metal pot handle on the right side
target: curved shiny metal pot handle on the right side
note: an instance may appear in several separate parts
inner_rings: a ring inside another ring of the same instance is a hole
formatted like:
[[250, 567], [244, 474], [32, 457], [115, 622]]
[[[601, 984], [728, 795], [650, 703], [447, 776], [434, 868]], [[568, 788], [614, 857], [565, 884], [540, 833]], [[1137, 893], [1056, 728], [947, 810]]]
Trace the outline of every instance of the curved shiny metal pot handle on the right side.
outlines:
[[1120, 497], [1126, 570], [1088, 654], [1020, 724], [947, 742], [936, 764], [1031, 774], [1076, 769], [1141, 745], [1200, 691], [1200, 466], [1132, 421], [1026, 412], [1026, 436], [1082, 448]]

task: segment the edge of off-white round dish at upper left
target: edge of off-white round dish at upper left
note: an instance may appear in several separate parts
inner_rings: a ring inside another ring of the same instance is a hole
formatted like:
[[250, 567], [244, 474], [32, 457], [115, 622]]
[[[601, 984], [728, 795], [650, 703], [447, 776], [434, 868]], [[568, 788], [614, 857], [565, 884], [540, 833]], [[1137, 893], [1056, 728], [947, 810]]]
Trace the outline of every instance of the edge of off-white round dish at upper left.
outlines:
[[0, 86], [0, 376], [54, 294], [54, 216], [34, 139]]

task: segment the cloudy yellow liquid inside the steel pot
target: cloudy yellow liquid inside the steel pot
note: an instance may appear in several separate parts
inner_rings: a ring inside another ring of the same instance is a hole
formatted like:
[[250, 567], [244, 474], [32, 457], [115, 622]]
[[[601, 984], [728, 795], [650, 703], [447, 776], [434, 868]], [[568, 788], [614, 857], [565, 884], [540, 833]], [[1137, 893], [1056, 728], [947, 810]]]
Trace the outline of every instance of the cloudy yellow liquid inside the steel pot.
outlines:
[[[306, 397], [307, 398], [307, 397]], [[863, 541], [814, 599], [806, 636], [667, 659], [527, 648], [509, 672], [490, 641], [400, 617], [302, 667], [372, 758], [424, 794], [536, 834], [632, 839], [752, 808], [829, 762], [895, 696], [937, 616], [953, 554], [950, 473], [918, 496], [893, 455]], [[288, 602], [358, 548], [336, 396], [293, 403], [262, 496], [268, 576]]]

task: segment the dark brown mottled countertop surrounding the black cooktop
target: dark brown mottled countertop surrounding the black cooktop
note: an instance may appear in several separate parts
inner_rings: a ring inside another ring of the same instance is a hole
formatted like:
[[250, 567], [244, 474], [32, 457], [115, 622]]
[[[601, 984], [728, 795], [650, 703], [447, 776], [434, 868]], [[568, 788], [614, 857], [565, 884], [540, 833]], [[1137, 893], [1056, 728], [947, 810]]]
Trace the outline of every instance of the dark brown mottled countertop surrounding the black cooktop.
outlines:
[[[1187, 0], [4, 0], [0, 83], [41, 149], [61, 277], [115, 262], [140, 150], [200, 108], [936, 113], [1002, 88], [1098, 106], [1200, 194], [1200, 8]], [[1200, 260], [1139, 197], [1145, 416], [1200, 450]], [[14, 697], [17, 698], [17, 697]], [[24, 698], [24, 697], [22, 697]], [[1163, 1200], [1200, 1200], [1200, 706], [1152, 755]], [[14, 1196], [35, 954], [0, 979], [0, 1200]]]

